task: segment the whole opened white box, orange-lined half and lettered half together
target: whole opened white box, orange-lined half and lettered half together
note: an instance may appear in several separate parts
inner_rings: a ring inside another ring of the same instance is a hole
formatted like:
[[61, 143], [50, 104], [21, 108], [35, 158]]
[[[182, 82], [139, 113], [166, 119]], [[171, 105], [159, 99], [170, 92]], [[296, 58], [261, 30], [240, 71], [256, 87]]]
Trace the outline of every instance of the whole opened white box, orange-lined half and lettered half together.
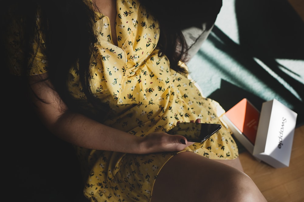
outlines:
[[244, 98], [221, 118], [257, 161], [289, 166], [297, 113], [276, 99], [264, 102], [259, 112]]

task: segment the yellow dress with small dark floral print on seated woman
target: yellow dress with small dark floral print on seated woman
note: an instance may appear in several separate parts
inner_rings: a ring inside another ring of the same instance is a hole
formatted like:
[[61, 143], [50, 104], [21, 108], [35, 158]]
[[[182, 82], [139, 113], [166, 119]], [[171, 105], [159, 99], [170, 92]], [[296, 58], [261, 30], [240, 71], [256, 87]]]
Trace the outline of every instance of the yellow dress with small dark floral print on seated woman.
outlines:
[[[154, 131], [169, 131], [177, 121], [199, 118], [202, 123], [219, 123], [223, 127], [216, 134], [185, 151], [211, 159], [236, 158], [237, 145], [219, 119], [224, 113], [220, 105], [204, 98], [187, 75], [170, 69], [165, 56], [158, 57], [157, 20], [137, 0], [117, 0], [116, 4], [116, 25], [110, 25], [108, 17], [96, 12], [98, 42], [90, 67], [92, 92], [111, 108], [103, 124], [145, 136]], [[118, 46], [112, 41], [111, 26], [116, 26]], [[43, 49], [40, 47], [36, 56], [40, 70], [30, 72], [32, 75], [46, 72]], [[15, 63], [12, 72], [18, 74], [18, 61]], [[72, 94], [85, 100], [73, 68], [70, 74]], [[176, 154], [135, 155], [75, 148], [83, 166], [84, 194], [91, 201], [99, 202], [150, 201], [158, 172]]]

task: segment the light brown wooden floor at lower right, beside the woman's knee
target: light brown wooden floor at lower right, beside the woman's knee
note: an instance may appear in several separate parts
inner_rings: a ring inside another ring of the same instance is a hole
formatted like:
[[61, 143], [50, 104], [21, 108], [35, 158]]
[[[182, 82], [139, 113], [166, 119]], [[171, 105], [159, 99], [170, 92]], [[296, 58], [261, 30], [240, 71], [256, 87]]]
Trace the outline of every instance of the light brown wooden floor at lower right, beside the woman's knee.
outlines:
[[295, 129], [289, 167], [273, 168], [258, 162], [247, 151], [240, 153], [244, 172], [268, 202], [304, 201], [304, 125]]

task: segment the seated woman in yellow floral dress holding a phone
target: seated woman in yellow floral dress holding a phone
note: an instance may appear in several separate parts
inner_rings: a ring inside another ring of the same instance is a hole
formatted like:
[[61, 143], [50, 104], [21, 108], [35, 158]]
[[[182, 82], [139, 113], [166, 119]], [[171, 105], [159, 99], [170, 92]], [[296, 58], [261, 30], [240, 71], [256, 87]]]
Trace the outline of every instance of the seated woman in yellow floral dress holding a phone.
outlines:
[[[222, 109], [187, 78], [176, 18], [161, 11], [160, 2], [143, 3], [37, 0], [10, 7], [10, 71], [28, 80], [45, 126], [75, 146], [85, 196], [265, 200], [242, 172], [228, 128], [204, 143], [166, 133], [179, 122], [223, 124]], [[209, 28], [217, 3], [202, 15]]]

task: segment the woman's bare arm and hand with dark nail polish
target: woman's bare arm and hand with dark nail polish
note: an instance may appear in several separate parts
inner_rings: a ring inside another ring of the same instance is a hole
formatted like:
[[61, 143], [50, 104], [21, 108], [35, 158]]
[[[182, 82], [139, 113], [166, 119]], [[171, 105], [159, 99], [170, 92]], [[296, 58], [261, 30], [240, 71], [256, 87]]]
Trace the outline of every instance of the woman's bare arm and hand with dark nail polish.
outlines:
[[[82, 114], [68, 110], [49, 80], [41, 81], [47, 74], [30, 76], [29, 81], [34, 95], [32, 100], [36, 111], [45, 126], [59, 138], [90, 149], [146, 154], [162, 151], [180, 151], [191, 143], [185, 137], [167, 133], [151, 133], [147, 137], [132, 134], [100, 124]], [[181, 144], [181, 139], [186, 144]]]

